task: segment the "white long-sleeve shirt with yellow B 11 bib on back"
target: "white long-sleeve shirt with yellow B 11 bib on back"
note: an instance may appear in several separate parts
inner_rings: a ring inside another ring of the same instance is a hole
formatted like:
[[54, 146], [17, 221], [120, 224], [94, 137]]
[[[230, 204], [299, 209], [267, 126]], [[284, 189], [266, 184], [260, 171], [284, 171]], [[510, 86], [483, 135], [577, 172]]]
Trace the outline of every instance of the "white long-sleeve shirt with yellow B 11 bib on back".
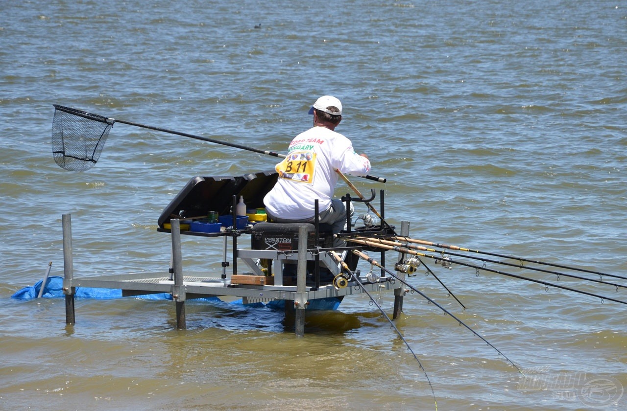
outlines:
[[329, 208], [338, 174], [366, 175], [370, 161], [357, 154], [344, 135], [325, 127], [313, 127], [297, 135], [288, 154], [276, 165], [279, 179], [266, 194], [266, 211], [284, 219], [314, 217], [314, 201], [319, 211]]

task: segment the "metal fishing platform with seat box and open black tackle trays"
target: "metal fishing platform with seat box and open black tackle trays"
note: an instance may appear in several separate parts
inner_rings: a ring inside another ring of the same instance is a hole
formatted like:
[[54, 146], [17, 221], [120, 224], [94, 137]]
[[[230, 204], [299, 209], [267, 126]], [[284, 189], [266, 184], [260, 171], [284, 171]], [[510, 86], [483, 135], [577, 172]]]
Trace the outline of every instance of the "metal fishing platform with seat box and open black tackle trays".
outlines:
[[[240, 197], [246, 200], [248, 209], [263, 207], [263, 197], [273, 187], [277, 177], [275, 172], [257, 172], [238, 177], [193, 177], [189, 180], [157, 221], [157, 231], [170, 234], [172, 242], [171, 264], [162, 273], [75, 278], [71, 217], [63, 215], [66, 323], [75, 323], [74, 295], [78, 287], [121, 289], [122, 296], [171, 294], [176, 304], [177, 328], [181, 329], [186, 328], [185, 301], [209, 297], [241, 298], [244, 304], [283, 305], [285, 310], [295, 310], [297, 335], [304, 334], [305, 310], [334, 310], [345, 296], [354, 294], [393, 291], [393, 318], [398, 317], [403, 308], [403, 283], [396, 281], [394, 276], [386, 276], [385, 271], [372, 273], [371, 270], [361, 276], [357, 270], [359, 257], [353, 251], [362, 251], [364, 246], [333, 244], [342, 236], [350, 236], [356, 231], [360, 236], [376, 237], [389, 234], [393, 227], [382, 224], [366, 226], [366, 219], [363, 227], [352, 227], [350, 216], [347, 216], [347, 230], [333, 236], [328, 231], [330, 227], [317, 221], [314, 224], [263, 221], [248, 224], [246, 217], [235, 214], [236, 199]], [[374, 189], [371, 194], [371, 199], [354, 199], [347, 194], [342, 200], [369, 204], [375, 197]], [[384, 190], [381, 190], [380, 203], [383, 221]], [[211, 212], [221, 216], [219, 229], [216, 229], [215, 223], [203, 223]], [[250, 217], [258, 219], [258, 216]], [[192, 229], [198, 224], [199, 228]], [[408, 229], [408, 222], [403, 222], [402, 234], [408, 235]], [[222, 267], [219, 278], [215, 274], [183, 272], [181, 236], [223, 241], [222, 253], [216, 256], [216, 263], [219, 262]], [[242, 246], [246, 237], [250, 237], [248, 244]], [[230, 255], [228, 242], [231, 242]], [[371, 251], [379, 252], [381, 263], [385, 262], [384, 251]], [[399, 275], [404, 278], [402, 272]]]

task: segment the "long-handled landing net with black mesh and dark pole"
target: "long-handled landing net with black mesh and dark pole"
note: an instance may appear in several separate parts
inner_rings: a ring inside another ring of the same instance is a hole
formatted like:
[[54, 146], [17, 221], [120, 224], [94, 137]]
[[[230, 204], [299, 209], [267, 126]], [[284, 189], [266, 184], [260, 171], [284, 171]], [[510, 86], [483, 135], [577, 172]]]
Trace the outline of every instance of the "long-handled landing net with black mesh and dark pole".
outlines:
[[[91, 169], [100, 158], [100, 153], [102, 153], [108, 133], [115, 122], [180, 135], [182, 137], [195, 138], [196, 140], [240, 148], [241, 150], [271, 155], [273, 157], [287, 157], [285, 154], [270, 150], [261, 150], [241, 144], [223, 142], [214, 138], [168, 130], [167, 128], [104, 117], [102, 115], [76, 110], [75, 108], [63, 107], [57, 104], [53, 104], [53, 106], [55, 107], [55, 117], [52, 122], [53, 156], [55, 157], [56, 164], [65, 170], [85, 171]], [[387, 179], [374, 177], [372, 175], [365, 175], [363, 178], [382, 183], [387, 181]]]

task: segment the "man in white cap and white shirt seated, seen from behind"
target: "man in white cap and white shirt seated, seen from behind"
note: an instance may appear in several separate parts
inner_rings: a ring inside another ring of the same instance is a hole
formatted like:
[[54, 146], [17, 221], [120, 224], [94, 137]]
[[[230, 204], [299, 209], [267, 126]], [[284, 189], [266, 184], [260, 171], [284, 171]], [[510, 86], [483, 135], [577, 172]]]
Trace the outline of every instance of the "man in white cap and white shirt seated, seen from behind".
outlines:
[[[334, 199], [339, 175], [367, 175], [370, 161], [357, 154], [349, 138], [335, 132], [342, 121], [342, 103], [334, 96], [322, 96], [309, 110], [314, 127], [297, 135], [288, 146], [287, 157], [276, 165], [277, 184], [263, 203], [274, 222], [315, 221], [314, 202], [318, 199], [319, 222], [338, 233], [346, 226], [346, 207]], [[350, 204], [349, 216], [353, 207]]]

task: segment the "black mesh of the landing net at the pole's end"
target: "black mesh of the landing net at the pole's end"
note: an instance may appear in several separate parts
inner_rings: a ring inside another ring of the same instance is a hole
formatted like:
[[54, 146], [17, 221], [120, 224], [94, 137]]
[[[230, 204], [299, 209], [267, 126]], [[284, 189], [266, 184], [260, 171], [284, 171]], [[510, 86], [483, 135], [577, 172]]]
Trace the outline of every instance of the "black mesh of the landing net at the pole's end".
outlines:
[[91, 169], [105, 147], [114, 120], [55, 105], [52, 154], [59, 167], [70, 171]]

